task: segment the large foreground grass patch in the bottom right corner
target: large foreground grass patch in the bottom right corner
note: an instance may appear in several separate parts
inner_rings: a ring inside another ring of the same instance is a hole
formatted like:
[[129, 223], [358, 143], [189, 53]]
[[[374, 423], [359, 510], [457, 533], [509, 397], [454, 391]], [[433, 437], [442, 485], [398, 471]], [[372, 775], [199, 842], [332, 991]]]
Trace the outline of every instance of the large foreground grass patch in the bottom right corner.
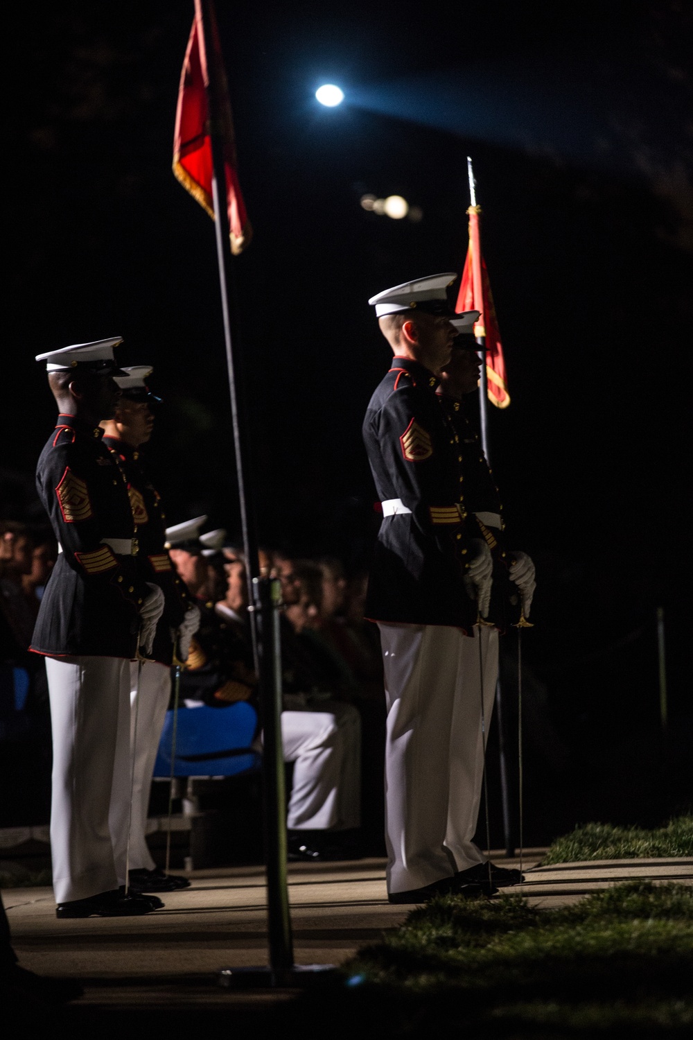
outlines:
[[336, 1036], [368, 1019], [384, 1036], [683, 1037], [691, 980], [693, 889], [636, 881], [557, 910], [439, 898], [309, 1003]]

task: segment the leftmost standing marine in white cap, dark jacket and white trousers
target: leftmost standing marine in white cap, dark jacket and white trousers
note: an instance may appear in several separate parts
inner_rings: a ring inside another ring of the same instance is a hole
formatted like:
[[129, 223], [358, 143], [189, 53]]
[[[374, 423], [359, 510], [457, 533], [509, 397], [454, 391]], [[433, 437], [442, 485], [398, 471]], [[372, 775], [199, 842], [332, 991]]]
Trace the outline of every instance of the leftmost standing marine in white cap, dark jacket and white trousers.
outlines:
[[138, 645], [150, 649], [163, 607], [161, 591], [137, 566], [138, 523], [127, 479], [98, 424], [117, 399], [118, 342], [78, 344], [36, 359], [47, 362], [62, 412], [36, 470], [60, 554], [31, 649], [46, 656], [53, 886], [64, 917], [145, 913], [155, 906], [144, 896], [122, 899], [125, 863], [108, 826], [111, 788], [127, 782], [129, 770], [130, 659]]

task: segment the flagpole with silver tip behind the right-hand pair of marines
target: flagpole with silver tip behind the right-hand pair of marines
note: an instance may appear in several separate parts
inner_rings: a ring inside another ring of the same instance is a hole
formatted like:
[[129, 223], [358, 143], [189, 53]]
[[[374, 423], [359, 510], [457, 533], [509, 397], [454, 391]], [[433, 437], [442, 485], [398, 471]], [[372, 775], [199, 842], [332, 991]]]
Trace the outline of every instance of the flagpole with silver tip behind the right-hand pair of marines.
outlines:
[[[474, 284], [474, 304], [479, 310], [483, 310], [483, 281], [481, 274], [481, 236], [479, 233], [480, 207], [477, 205], [477, 182], [474, 179], [472, 159], [467, 157], [467, 173], [470, 180], [470, 238], [472, 240], [472, 280]], [[479, 307], [479, 305], [481, 305]], [[486, 315], [482, 313], [483, 328], [485, 330]], [[479, 357], [481, 359], [481, 369], [479, 372], [479, 425], [481, 427], [481, 448], [488, 468], [491, 467], [490, 448], [488, 443], [488, 375], [486, 373], [486, 336], [476, 336], [476, 341], [481, 348]], [[501, 772], [501, 806], [503, 811], [503, 837], [505, 839], [505, 854], [508, 858], [514, 855], [515, 849], [512, 840], [512, 829], [510, 826], [510, 794], [508, 791], [508, 761], [505, 739], [505, 710], [503, 688], [500, 676], [496, 682], [496, 710], [498, 716], [499, 731], [499, 759]]]

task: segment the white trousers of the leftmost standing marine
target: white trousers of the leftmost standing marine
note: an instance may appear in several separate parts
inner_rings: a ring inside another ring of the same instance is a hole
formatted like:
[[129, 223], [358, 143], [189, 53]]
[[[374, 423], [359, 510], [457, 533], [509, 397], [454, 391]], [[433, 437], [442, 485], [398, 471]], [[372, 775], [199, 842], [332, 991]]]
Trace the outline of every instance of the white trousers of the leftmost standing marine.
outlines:
[[51, 855], [57, 903], [122, 883], [108, 824], [130, 777], [130, 661], [47, 657], [53, 731]]

